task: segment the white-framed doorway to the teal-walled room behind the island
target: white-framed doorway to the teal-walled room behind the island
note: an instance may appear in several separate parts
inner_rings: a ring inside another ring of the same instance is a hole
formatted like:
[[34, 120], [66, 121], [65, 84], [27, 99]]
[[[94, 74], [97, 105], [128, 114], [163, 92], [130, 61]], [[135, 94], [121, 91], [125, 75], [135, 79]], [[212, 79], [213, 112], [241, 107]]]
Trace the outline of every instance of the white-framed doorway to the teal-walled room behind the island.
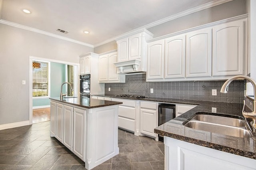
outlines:
[[[50, 62], [51, 68], [49, 73], [49, 94], [47, 96], [37, 97], [35, 102], [35, 97], [33, 97], [33, 91], [35, 88], [33, 87], [33, 67], [32, 63], [33, 60], [40, 60], [40, 61], [47, 61]], [[65, 65], [64, 69], [59, 69], [58, 67], [54, 68], [54, 65]], [[69, 66], [68, 66], [69, 65]], [[30, 81], [29, 81], [29, 88], [30, 88], [30, 101], [29, 101], [29, 123], [32, 125], [33, 123], [39, 123], [44, 121], [50, 121], [50, 99], [49, 97], [59, 97], [60, 95], [60, 85], [63, 82], [70, 80], [70, 75], [66, 73], [67, 70], [70, 70], [70, 66], [72, 66], [72, 71], [74, 75], [72, 76], [73, 79], [73, 89], [74, 93], [70, 95], [77, 96], [78, 95], [78, 71], [79, 71], [79, 64], [78, 63], [69, 63], [65, 61], [57, 61], [53, 59], [45, 59], [45, 58], [38, 58], [30, 56]], [[60, 73], [63, 71], [63, 76], [60, 79]], [[54, 82], [58, 79], [58, 82]], [[55, 83], [55, 84], [54, 84]], [[51, 85], [52, 84], [52, 85]], [[69, 91], [68, 91], [69, 94]], [[35, 104], [36, 103], [36, 104]], [[44, 103], [39, 105], [38, 103]]]

